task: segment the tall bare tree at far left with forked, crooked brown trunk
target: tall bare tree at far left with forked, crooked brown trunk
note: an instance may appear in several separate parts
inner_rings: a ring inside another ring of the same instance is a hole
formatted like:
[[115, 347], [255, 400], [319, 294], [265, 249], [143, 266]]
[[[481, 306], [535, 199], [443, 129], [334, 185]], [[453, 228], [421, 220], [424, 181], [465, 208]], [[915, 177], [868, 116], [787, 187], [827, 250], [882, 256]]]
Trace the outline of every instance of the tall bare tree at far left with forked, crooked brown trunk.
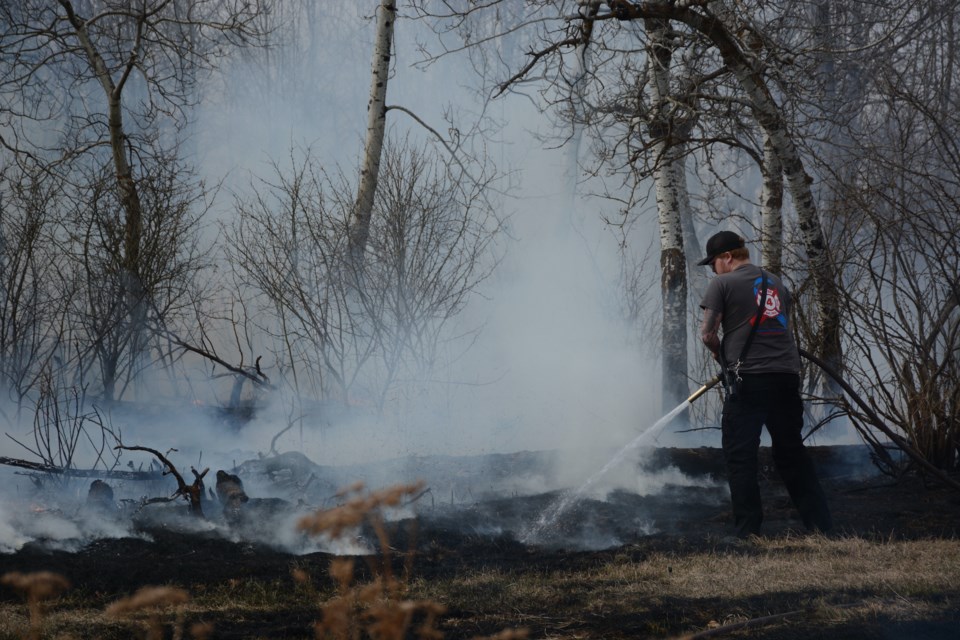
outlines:
[[[101, 308], [109, 309], [98, 329], [100, 345], [109, 343], [100, 350], [108, 399], [116, 393], [120, 358], [135, 363], [134, 369], [144, 366], [147, 315], [162, 308], [152, 289], [156, 272], [149, 273], [146, 263], [159, 266], [157, 257], [169, 251], [149, 246], [163, 238], [151, 237], [149, 229], [162, 216], [155, 206], [146, 210], [152, 204], [145, 192], [155, 189], [154, 172], [171, 160], [196, 99], [196, 82], [226, 45], [259, 41], [263, 34], [254, 18], [263, 9], [258, 0], [230, 6], [207, 0], [25, 0], [0, 9], [0, 50], [7, 63], [0, 90], [10, 97], [0, 107], [0, 144], [15, 159], [31, 159], [79, 190], [86, 188], [83, 176], [92, 177], [87, 184], [100, 202], [114, 198], [119, 207], [71, 230], [77, 237], [108, 232], [100, 238], [110, 242], [101, 245], [107, 252], [101, 258], [118, 270], [106, 291], [96, 294]], [[107, 166], [105, 190], [101, 167]], [[103, 299], [105, 292], [113, 301]], [[107, 338], [107, 327], [126, 335]]]

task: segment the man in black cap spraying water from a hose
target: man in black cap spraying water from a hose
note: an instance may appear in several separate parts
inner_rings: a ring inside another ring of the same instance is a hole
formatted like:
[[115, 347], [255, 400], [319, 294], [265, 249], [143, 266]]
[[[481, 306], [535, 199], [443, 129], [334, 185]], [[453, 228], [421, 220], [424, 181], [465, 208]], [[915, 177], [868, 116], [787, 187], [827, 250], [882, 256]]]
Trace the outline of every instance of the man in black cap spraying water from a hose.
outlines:
[[[721, 421], [737, 535], [759, 535], [763, 522], [757, 452], [764, 424], [774, 464], [804, 525], [827, 532], [832, 527], [830, 510], [801, 435], [800, 354], [789, 326], [790, 293], [780, 278], [750, 263], [744, 239], [732, 231], [711, 236], [707, 257], [699, 264], [710, 265], [717, 274], [700, 303], [700, 338], [739, 380], [737, 393], [728, 389], [724, 398]], [[767, 295], [760, 323], [744, 354], [764, 280]]]

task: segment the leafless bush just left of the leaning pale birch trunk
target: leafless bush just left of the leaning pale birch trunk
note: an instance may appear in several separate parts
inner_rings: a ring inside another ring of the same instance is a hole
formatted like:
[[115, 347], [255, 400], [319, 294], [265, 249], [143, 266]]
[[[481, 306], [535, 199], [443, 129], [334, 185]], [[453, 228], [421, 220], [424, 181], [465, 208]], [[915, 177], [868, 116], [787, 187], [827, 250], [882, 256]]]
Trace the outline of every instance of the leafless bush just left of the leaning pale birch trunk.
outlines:
[[[374, 343], [347, 313], [348, 220], [355, 194], [343, 175], [329, 176], [307, 152], [275, 165], [275, 183], [254, 186], [227, 230], [227, 257], [247, 304], [297, 392], [346, 402]], [[256, 318], [262, 318], [257, 320]]]

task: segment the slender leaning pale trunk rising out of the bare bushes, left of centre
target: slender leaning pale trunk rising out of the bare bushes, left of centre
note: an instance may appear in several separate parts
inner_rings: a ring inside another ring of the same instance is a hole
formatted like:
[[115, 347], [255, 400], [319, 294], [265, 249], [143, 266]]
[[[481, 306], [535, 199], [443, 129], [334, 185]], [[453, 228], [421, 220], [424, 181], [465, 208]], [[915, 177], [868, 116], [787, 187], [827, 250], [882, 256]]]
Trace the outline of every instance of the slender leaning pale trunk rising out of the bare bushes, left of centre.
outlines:
[[381, 0], [377, 11], [377, 36], [373, 48], [370, 78], [370, 101], [367, 103], [367, 138], [364, 144], [360, 186], [350, 221], [349, 251], [354, 267], [363, 264], [363, 254], [370, 237], [370, 217], [373, 198], [380, 176], [380, 158], [387, 125], [387, 81], [390, 75], [390, 47], [393, 43], [393, 23], [396, 20], [395, 0]]

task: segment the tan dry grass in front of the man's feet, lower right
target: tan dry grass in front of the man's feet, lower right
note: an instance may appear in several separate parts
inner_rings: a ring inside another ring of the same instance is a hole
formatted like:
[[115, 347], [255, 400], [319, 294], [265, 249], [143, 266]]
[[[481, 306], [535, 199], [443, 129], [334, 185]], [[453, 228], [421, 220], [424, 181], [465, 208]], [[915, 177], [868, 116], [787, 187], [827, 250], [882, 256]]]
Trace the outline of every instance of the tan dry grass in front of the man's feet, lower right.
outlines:
[[[802, 617], [822, 633], [881, 618], [960, 616], [960, 541], [810, 536], [676, 553], [634, 549], [586, 569], [488, 569], [419, 582], [415, 591], [451, 607], [469, 603], [468, 624], [523, 621], [549, 638], [673, 637], [788, 612], [797, 614], [794, 627]], [[603, 619], [633, 627], [618, 633]]]

